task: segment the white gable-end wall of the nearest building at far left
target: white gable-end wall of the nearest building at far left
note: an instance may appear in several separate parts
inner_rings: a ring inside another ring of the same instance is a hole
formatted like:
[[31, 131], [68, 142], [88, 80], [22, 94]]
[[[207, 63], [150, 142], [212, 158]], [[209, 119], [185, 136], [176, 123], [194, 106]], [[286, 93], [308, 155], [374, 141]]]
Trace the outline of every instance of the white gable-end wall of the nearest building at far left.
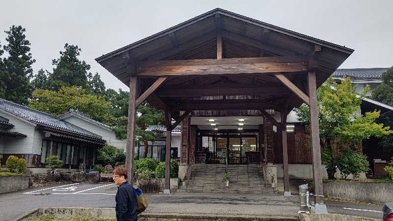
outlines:
[[12, 138], [1, 136], [2, 154], [33, 154], [32, 144], [34, 139], [34, 126], [8, 113], [0, 112], [0, 116], [9, 119], [9, 123], [15, 125], [9, 131], [27, 135], [26, 138]]

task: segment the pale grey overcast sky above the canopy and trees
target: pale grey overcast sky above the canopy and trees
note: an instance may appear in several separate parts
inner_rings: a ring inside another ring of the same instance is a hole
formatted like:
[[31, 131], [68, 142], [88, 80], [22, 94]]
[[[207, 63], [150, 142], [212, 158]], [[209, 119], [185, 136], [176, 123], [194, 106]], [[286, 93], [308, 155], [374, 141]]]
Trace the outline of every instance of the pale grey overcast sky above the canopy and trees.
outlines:
[[[393, 65], [393, 0], [2, 0], [0, 29], [22, 25], [40, 68], [64, 44], [82, 48], [80, 59], [98, 72], [107, 88], [128, 87], [94, 58], [194, 18], [214, 8], [241, 14], [338, 45], [355, 52], [340, 68]], [[5, 33], [0, 34], [6, 44]]]

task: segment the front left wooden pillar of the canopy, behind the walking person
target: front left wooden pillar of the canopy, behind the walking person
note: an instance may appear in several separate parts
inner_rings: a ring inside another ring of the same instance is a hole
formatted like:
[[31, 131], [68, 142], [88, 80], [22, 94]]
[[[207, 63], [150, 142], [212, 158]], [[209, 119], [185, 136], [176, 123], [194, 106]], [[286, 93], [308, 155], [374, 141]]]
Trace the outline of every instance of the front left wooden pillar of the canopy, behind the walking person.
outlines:
[[128, 122], [127, 122], [127, 146], [126, 146], [126, 168], [128, 171], [127, 181], [134, 183], [134, 155], [135, 155], [135, 123], [137, 111], [135, 101], [137, 93], [137, 77], [130, 78], [130, 97], [128, 100]]

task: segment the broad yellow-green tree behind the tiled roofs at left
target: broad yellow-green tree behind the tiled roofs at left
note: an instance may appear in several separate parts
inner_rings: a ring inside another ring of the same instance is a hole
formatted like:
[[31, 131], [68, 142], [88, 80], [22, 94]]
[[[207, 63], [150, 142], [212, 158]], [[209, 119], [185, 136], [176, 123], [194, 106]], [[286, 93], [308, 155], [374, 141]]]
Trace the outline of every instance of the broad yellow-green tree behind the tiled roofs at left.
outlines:
[[104, 97], [96, 97], [84, 89], [72, 86], [61, 87], [58, 91], [38, 89], [32, 93], [28, 107], [55, 116], [73, 108], [90, 115], [94, 120], [112, 126], [114, 122], [110, 105]]

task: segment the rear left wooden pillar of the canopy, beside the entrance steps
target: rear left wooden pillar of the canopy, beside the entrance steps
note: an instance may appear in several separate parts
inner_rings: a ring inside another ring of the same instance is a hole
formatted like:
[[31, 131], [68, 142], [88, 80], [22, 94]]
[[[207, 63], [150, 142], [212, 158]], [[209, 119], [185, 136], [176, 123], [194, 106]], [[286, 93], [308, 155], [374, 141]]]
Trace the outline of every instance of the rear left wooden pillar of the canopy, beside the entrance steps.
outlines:
[[164, 194], [170, 193], [170, 138], [172, 131], [171, 128], [171, 112], [170, 110], [165, 110], [165, 117], [167, 122], [167, 142], [165, 151], [165, 188]]

